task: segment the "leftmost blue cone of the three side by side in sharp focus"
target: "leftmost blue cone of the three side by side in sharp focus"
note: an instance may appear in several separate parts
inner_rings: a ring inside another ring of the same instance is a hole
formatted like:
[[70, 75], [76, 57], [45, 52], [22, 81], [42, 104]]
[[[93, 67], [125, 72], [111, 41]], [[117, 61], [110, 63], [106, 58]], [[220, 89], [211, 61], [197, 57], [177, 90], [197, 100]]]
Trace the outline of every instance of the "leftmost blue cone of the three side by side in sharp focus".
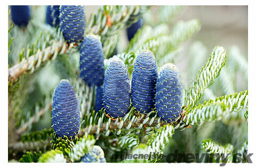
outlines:
[[119, 58], [113, 58], [105, 72], [103, 107], [112, 118], [123, 117], [130, 106], [130, 81], [127, 68]]

